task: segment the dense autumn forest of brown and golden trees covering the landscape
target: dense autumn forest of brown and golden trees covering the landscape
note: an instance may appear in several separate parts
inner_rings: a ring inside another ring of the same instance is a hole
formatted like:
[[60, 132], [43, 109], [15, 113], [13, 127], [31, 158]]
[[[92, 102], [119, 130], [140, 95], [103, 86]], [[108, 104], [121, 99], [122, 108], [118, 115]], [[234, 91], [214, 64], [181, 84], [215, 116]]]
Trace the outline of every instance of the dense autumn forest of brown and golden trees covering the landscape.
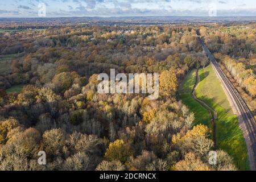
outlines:
[[[198, 32], [255, 114], [255, 24], [0, 32], [0, 54], [14, 55], [0, 76], [0, 170], [236, 170], [221, 148], [208, 163], [212, 129], [195, 125], [177, 92], [209, 64]], [[98, 94], [97, 76], [110, 69], [159, 73], [158, 100]], [[7, 92], [15, 85], [21, 92]]]

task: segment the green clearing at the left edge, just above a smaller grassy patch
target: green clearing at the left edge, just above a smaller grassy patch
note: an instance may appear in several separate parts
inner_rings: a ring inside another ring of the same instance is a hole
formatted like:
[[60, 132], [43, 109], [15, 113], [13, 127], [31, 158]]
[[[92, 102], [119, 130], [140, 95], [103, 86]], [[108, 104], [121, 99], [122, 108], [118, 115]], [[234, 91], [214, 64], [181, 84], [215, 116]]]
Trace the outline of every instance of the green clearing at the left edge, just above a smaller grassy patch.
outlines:
[[11, 61], [16, 57], [13, 55], [0, 55], [0, 75], [8, 75], [11, 72]]

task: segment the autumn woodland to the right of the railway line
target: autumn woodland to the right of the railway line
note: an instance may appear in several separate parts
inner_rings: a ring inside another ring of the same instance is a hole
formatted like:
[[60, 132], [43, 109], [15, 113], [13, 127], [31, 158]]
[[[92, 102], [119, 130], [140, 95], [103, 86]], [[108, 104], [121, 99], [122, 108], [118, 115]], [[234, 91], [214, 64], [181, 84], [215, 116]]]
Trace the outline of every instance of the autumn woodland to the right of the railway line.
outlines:
[[201, 27], [200, 34], [255, 116], [255, 24]]

